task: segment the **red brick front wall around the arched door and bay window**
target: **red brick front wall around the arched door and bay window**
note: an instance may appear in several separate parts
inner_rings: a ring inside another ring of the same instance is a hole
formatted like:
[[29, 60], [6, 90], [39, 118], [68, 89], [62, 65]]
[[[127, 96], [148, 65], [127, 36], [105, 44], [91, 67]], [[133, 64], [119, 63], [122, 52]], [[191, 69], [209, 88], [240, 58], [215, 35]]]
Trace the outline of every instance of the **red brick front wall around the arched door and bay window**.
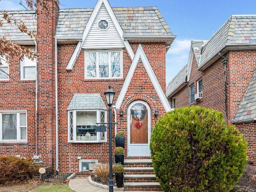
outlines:
[[[132, 44], [134, 53], [138, 44]], [[142, 45], [152, 68], [158, 77], [160, 85], [165, 90], [165, 45], [164, 44], [143, 44]], [[106, 143], [69, 143], [68, 142], [68, 116], [67, 108], [75, 93], [100, 93], [105, 101], [104, 92], [108, 85], [116, 92], [114, 104], [124, 84], [128, 70], [132, 61], [123, 49], [123, 76], [122, 79], [105, 79], [105, 80], [84, 80], [84, 50], [81, 51], [72, 71], [66, 71], [66, 66], [74, 51], [75, 45], [58, 46], [58, 135], [59, 135], [59, 168], [60, 172], [78, 172], [80, 156], [82, 159], [98, 159], [100, 163], [108, 162], [108, 142]], [[159, 53], [159, 55], [156, 53]], [[141, 62], [138, 63], [131, 80], [127, 93], [122, 102], [120, 109], [124, 110], [124, 116], [120, 118], [117, 111], [117, 130], [123, 130], [127, 136], [127, 108], [134, 100], [144, 100], [151, 108], [152, 128], [155, 121], [154, 110], [159, 109], [159, 114], [164, 114], [164, 108], [156, 94], [156, 90], [151, 83], [150, 78]], [[114, 121], [114, 111], [112, 110]], [[108, 135], [108, 134], [107, 134]], [[114, 149], [114, 126], [113, 126], [113, 149]], [[127, 150], [127, 144], [125, 147]], [[127, 156], [127, 151], [126, 151]]]

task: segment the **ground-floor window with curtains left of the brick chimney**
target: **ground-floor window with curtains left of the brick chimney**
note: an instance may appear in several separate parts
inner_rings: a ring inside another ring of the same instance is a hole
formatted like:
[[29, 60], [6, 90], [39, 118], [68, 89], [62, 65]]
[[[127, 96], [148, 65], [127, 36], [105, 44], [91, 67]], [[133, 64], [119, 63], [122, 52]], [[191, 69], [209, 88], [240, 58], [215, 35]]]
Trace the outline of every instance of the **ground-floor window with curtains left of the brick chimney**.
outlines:
[[0, 112], [0, 141], [27, 141], [26, 112]]

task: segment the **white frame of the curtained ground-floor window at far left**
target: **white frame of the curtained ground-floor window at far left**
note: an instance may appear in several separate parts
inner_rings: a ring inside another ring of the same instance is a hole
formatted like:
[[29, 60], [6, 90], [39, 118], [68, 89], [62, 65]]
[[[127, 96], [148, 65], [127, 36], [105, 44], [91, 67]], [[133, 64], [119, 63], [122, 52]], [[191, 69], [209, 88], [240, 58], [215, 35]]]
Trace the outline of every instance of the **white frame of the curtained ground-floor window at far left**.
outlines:
[[[17, 139], [16, 140], [3, 140], [2, 139], [2, 114], [16, 114], [17, 115]], [[20, 126], [20, 114], [26, 114], [26, 126]], [[20, 128], [26, 127], [26, 139], [21, 139]], [[28, 141], [28, 115], [26, 111], [0, 111], [0, 142], [27, 142]]]

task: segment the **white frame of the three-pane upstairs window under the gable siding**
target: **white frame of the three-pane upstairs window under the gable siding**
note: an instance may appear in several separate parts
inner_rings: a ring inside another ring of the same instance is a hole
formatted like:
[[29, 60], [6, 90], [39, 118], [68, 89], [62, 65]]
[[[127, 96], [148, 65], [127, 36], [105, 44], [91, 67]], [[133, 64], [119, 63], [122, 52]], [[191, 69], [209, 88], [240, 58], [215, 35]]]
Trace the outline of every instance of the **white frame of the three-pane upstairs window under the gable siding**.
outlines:
[[[87, 77], [87, 53], [96, 53], [96, 77]], [[108, 77], [99, 77], [99, 52], [108, 52]], [[111, 77], [111, 52], [120, 52], [120, 77]], [[123, 50], [94, 50], [84, 52], [84, 78], [85, 79], [120, 79], [123, 78]]]

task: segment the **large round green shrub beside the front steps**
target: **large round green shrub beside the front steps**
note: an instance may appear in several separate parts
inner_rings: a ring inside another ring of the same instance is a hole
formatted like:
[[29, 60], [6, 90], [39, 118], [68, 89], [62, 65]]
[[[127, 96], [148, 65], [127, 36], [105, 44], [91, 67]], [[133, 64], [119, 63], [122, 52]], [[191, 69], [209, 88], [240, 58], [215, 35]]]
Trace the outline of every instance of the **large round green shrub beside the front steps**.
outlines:
[[220, 112], [175, 109], [150, 140], [154, 172], [165, 192], [228, 192], [244, 171], [246, 142]]

